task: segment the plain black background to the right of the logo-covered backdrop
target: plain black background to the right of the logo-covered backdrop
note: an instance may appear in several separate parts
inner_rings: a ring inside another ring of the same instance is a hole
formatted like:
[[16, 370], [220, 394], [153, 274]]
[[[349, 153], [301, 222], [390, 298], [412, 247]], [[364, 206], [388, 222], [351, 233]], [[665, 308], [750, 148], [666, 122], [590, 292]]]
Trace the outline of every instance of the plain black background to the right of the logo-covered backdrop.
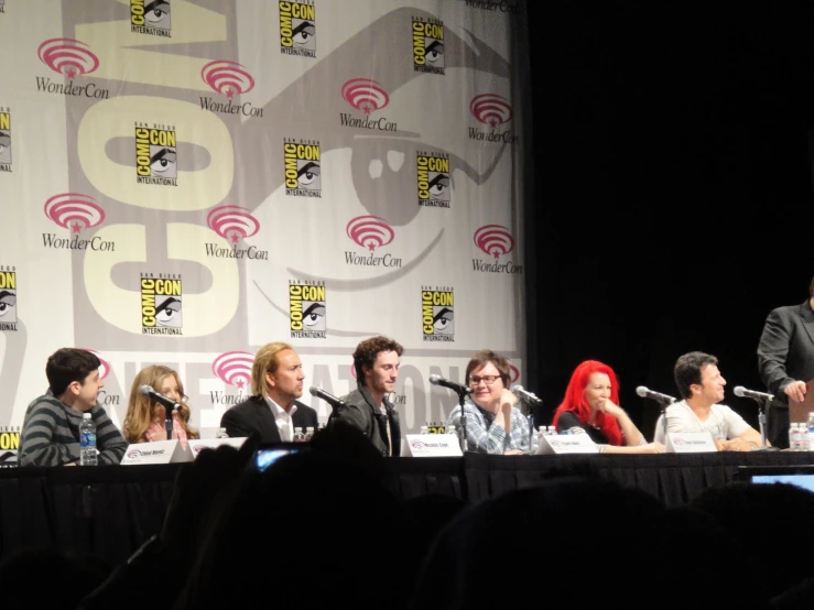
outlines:
[[732, 388], [764, 390], [766, 316], [805, 301], [814, 275], [814, 3], [546, 0], [528, 18], [536, 424], [598, 359], [652, 438], [659, 407], [636, 386], [677, 397], [675, 359], [701, 350], [757, 428]]

